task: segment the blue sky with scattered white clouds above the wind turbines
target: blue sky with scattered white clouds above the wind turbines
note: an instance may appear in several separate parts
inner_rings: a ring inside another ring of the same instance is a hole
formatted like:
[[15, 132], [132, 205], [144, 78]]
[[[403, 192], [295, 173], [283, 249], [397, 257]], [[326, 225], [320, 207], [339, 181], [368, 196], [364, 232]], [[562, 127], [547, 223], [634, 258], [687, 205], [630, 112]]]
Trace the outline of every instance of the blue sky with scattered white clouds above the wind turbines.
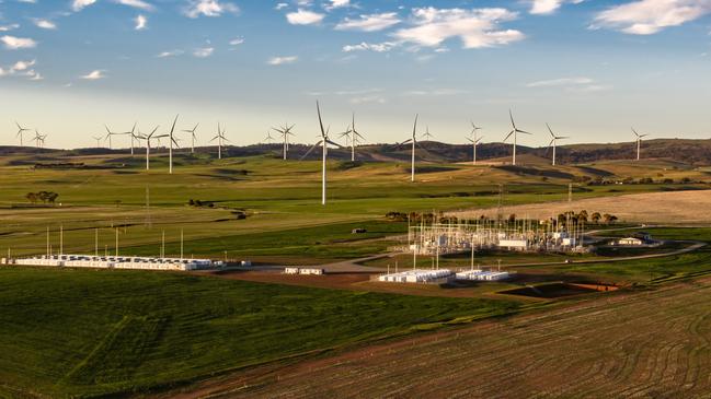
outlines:
[[[711, 0], [0, 0], [0, 144], [218, 121], [238, 145], [355, 113], [370, 143], [709, 139]], [[27, 133], [26, 139], [32, 134]], [[187, 136], [185, 137], [187, 140]], [[118, 145], [128, 145], [128, 139]]]

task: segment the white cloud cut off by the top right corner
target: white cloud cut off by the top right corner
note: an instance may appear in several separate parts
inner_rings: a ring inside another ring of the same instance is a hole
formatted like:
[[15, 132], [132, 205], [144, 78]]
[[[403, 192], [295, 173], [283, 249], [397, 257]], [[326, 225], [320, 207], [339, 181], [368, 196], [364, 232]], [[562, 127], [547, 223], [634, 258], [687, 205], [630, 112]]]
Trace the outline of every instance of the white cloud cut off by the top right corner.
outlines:
[[638, 0], [598, 13], [590, 28], [610, 27], [632, 35], [651, 35], [709, 13], [711, 0]]

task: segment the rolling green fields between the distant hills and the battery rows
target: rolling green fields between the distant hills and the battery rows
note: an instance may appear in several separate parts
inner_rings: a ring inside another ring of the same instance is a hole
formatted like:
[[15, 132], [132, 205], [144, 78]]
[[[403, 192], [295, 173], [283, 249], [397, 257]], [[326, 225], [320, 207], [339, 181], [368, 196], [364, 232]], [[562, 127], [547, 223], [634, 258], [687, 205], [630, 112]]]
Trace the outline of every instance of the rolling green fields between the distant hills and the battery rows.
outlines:
[[[56, 251], [58, 231], [62, 226], [65, 251], [93, 253], [94, 228], [99, 228], [100, 251], [113, 254], [114, 228], [119, 227], [119, 247], [125, 249], [125, 255], [158, 254], [163, 232], [167, 253], [177, 255], [183, 231], [186, 251], [195, 256], [221, 258], [228, 251], [228, 256], [237, 259], [270, 259], [288, 255], [295, 259], [303, 256], [301, 262], [306, 262], [359, 256], [383, 248], [360, 240], [360, 248], [352, 243], [333, 249], [331, 228], [312, 227], [334, 226], [337, 230], [337, 226], [351, 226], [352, 223], [381, 223], [389, 211], [492, 208], [500, 201], [500, 184], [504, 185], [501, 200], [508, 214], [509, 208], [517, 204], [564, 200], [569, 183], [600, 175], [654, 177], [656, 180], [662, 177], [708, 179], [708, 174], [696, 168], [678, 168], [664, 162], [616, 162], [555, 169], [547, 165], [511, 168], [423, 164], [423, 173], [417, 175], [417, 183], [412, 184], [404, 163], [333, 161], [329, 163], [329, 203], [322, 207], [319, 162], [284, 162], [270, 156], [218, 161], [204, 154], [180, 155], [176, 160], [173, 176], [167, 174], [164, 154], [154, 157], [150, 172], [142, 169], [141, 156], [61, 159], [98, 167], [83, 169], [19, 166], [32, 164], [30, 156], [5, 160], [5, 165], [0, 166], [3, 187], [0, 191], [0, 251], [9, 248], [15, 255], [44, 254], [47, 228], [50, 231], [49, 245]], [[684, 186], [706, 187], [702, 183]], [[575, 184], [574, 197], [609, 197], [670, 188], [676, 189], [668, 184]], [[25, 208], [28, 202], [24, 197], [31, 190], [58, 192], [57, 202], [61, 206]], [[190, 199], [213, 206], [190, 207]], [[245, 214], [246, 219], [238, 219], [238, 213]], [[477, 216], [479, 212], [472, 214]], [[305, 245], [310, 249], [305, 251]]]

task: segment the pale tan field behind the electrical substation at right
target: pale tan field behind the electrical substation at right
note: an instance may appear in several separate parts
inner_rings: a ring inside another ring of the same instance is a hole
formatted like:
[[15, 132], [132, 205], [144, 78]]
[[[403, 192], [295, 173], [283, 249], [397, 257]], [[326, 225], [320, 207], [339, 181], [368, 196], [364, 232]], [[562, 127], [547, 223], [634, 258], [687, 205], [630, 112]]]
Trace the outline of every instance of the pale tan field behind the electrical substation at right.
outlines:
[[[572, 202], [547, 202], [502, 208], [502, 213], [519, 218], [548, 219], [566, 211], [610, 213], [620, 222], [664, 224], [711, 223], [711, 190], [649, 192], [588, 198]], [[459, 218], [496, 216], [496, 209], [454, 212]]]

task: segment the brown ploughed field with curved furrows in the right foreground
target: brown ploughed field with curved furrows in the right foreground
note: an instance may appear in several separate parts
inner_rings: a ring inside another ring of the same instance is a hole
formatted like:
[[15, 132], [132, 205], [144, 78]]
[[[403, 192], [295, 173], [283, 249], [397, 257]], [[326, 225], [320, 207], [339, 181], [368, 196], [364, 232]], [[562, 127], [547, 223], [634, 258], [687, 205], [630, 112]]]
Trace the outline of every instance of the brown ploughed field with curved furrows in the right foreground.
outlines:
[[711, 279], [375, 343], [172, 397], [697, 398], [711, 391]]

